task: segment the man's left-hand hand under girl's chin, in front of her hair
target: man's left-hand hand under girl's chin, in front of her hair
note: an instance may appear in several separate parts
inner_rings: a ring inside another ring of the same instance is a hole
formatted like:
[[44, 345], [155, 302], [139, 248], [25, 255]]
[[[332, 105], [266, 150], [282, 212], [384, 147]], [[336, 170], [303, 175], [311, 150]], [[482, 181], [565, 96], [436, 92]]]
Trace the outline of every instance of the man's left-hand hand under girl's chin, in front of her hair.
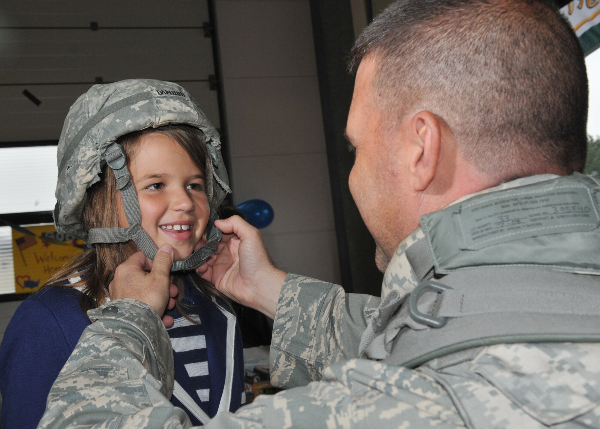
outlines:
[[164, 326], [173, 326], [173, 318], [164, 315], [166, 308], [175, 306], [177, 287], [170, 282], [173, 266], [173, 248], [163, 245], [158, 249], [154, 262], [142, 252], [131, 255], [116, 267], [115, 277], [109, 285], [110, 299], [131, 298], [142, 301], [163, 319]]

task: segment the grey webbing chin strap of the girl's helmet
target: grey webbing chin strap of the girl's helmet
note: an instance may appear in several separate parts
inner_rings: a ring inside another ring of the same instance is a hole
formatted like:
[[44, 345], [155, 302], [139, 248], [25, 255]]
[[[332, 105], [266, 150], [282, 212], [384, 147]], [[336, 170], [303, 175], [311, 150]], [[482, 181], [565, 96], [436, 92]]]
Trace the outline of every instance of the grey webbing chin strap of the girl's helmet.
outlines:
[[[209, 146], [209, 145], [208, 145]], [[133, 186], [131, 175], [125, 162], [125, 152], [121, 145], [113, 143], [104, 153], [104, 160], [115, 172], [116, 188], [121, 192], [121, 200], [127, 216], [128, 228], [91, 228], [88, 233], [88, 243], [123, 243], [133, 240], [146, 257], [154, 260], [158, 249], [148, 233], [142, 228], [142, 212], [137, 201], [136, 189]], [[211, 164], [207, 162], [207, 164]], [[212, 165], [210, 165], [211, 173]], [[218, 244], [223, 236], [221, 230], [214, 225], [218, 219], [217, 212], [211, 210], [211, 218], [206, 225], [206, 244], [196, 249], [190, 257], [183, 261], [175, 261], [171, 272], [193, 270], [201, 266], [217, 251]]]

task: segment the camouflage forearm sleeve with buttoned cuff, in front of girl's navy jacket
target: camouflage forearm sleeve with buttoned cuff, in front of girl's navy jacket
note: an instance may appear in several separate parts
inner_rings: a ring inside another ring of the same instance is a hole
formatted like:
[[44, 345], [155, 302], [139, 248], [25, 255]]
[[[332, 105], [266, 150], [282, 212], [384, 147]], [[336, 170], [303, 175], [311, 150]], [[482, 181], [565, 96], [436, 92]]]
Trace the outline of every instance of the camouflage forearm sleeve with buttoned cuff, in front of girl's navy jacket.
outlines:
[[184, 410], [167, 399], [173, 350], [156, 312], [118, 299], [88, 317], [95, 323], [83, 331], [52, 385], [39, 427], [190, 427]]

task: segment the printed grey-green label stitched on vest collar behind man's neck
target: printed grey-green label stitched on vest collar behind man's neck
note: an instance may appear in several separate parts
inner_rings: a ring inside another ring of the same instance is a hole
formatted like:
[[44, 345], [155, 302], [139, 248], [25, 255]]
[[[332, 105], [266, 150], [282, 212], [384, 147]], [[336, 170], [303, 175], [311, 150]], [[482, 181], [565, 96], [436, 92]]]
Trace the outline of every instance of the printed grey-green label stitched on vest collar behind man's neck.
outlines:
[[502, 193], [458, 205], [452, 213], [460, 249], [482, 249], [515, 239], [591, 231], [600, 225], [598, 207], [584, 186]]

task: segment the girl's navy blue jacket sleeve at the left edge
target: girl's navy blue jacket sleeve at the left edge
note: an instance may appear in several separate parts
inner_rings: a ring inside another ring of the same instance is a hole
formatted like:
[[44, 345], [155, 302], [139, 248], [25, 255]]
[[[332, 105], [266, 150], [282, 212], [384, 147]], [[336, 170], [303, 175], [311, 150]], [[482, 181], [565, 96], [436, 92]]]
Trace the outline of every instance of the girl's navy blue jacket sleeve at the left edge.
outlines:
[[50, 387], [70, 354], [52, 311], [37, 299], [21, 303], [0, 347], [2, 427], [37, 426]]

